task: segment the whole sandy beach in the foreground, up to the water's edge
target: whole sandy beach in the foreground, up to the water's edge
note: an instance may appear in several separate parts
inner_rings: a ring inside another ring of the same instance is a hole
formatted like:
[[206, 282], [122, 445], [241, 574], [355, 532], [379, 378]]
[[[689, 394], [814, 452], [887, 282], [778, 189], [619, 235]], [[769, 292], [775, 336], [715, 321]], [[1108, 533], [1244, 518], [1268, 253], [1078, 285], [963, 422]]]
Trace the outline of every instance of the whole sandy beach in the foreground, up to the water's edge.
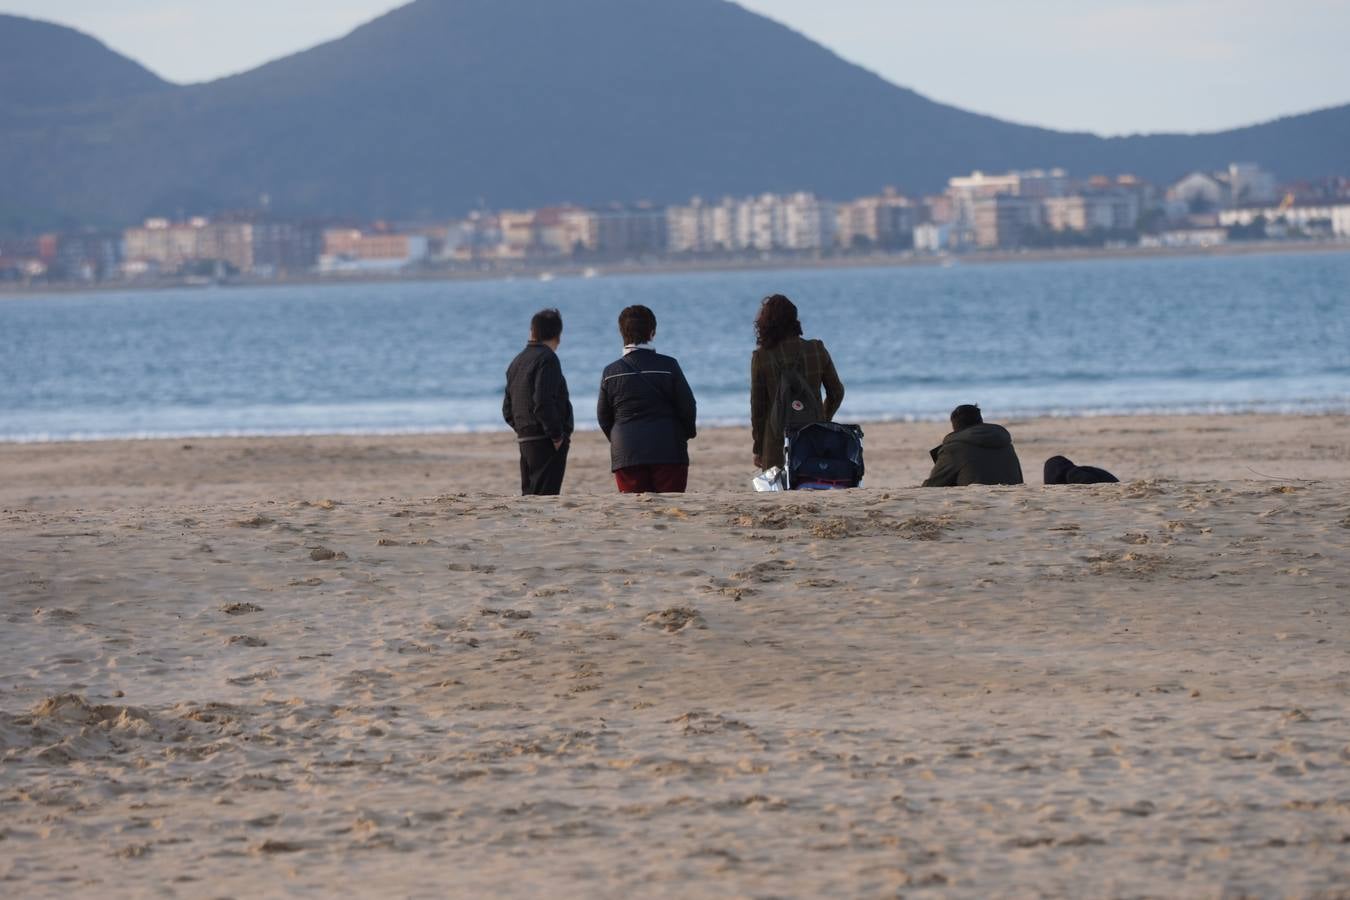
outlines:
[[1350, 418], [1010, 426], [0, 445], [0, 895], [1350, 896]]

